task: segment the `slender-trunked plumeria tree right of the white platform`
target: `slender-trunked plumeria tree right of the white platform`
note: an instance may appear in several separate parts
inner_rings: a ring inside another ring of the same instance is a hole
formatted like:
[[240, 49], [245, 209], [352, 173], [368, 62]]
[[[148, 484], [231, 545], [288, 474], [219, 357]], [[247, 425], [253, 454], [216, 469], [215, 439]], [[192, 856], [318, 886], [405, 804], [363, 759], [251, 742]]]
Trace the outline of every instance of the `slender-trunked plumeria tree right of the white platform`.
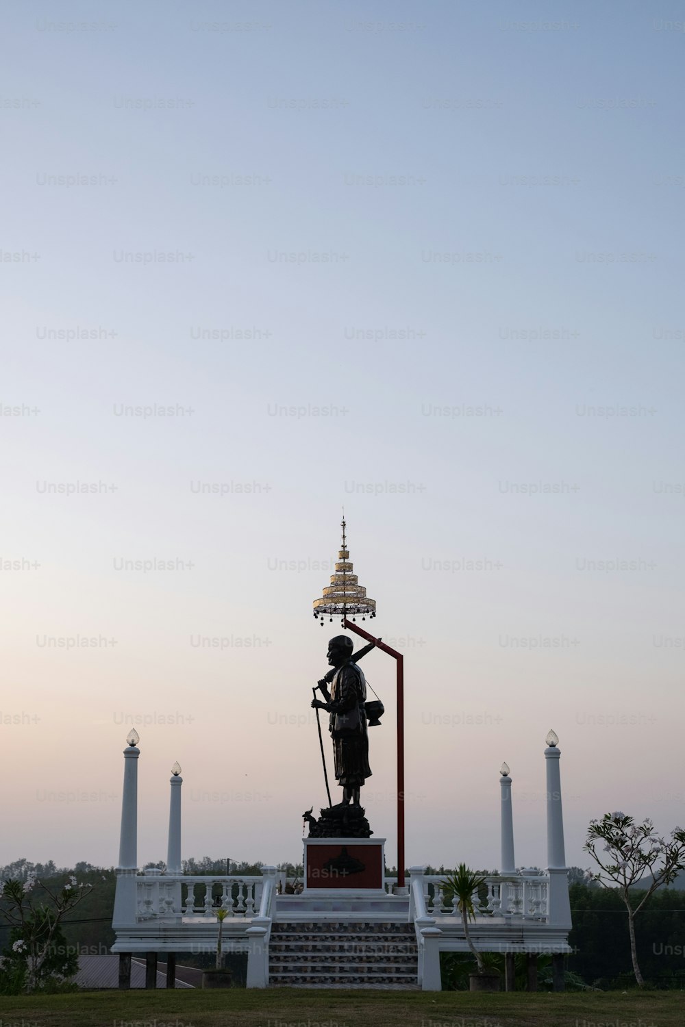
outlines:
[[[616, 810], [605, 813], [601, 821], [589, 822], [583, 847], [600, 867], [599, 873], [588, 871], [593, 873], [593, 879], [606, 888], [618, 885], [618, 893], [627, 910], [633, 971], [642, 988], [645, 982], [638, 963], [635, 918], [660, 884], [671, 884], [678, 872], [685, 870], [685, 831], [674, 828], [671, 837], [665, 839], [656, 834], [649, 819], [636, 824], [633, 816]], [[598, 853], [600, 847], [601, 852]], [[631, 888], [637, 890], [645, 875], [649, 875], [649, 886], [645, 881], [644, 895], [634, 906], [630, 898]]]

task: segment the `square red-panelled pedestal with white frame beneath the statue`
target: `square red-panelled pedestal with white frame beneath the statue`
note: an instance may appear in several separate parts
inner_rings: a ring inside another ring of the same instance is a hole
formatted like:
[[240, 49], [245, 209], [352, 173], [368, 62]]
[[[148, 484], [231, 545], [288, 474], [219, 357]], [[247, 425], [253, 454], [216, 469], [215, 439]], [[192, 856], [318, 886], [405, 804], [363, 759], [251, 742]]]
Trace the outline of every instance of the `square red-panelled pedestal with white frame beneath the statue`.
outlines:
[[385, 838], [305, 838], [304, 890], [385, 893]]

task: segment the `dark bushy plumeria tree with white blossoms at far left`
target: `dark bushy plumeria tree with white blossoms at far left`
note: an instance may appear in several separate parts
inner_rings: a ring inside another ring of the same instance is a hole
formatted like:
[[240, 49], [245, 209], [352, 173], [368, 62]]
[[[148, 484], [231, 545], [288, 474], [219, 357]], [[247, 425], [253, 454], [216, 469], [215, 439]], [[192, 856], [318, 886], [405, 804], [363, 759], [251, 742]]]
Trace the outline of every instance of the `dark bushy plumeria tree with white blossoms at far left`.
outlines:
[[78, 884], [74, 876], [51, 888], [29, 874], [25, 881], [2, 882], [0, 912], [11, 925], [7, 964], [20, 973], [26, 991], [35, 991], [51, 978], [64, 981], [78, 967], [67, 952], [61, 923], [66, 913], [90, 892], [92, 885]]

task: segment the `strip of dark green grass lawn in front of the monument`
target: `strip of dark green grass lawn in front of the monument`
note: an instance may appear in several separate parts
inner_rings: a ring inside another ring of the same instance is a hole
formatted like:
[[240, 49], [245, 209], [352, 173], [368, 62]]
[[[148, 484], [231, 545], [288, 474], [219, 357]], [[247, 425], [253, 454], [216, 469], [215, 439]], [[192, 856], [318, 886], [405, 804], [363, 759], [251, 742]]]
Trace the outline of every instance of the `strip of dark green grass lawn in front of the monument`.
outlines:
[[0, 996], [1, 1027], [682, 1027], [685, 993], [83, 991]]

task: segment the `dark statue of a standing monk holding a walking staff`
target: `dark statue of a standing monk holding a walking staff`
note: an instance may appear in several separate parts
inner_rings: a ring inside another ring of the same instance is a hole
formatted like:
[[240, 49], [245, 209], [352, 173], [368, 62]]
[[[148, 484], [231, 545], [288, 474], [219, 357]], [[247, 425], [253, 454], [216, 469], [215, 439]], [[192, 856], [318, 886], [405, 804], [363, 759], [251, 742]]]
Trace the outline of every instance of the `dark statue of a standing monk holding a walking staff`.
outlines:
[[[312, 699], [311, 705], [331, 714], [329, 730], [333, 737], [335, 775], [343, 789], [342, 805], [358, 806], [359, 789], [367, 777], [371, 777], [369, 730], [364, 708], [367, 682], [361, 668], [352, 659], [352, 640], [346, 635], [331, 639], [328, 657], [334, 670], [317, 685], [326, 701]], [[331, 673], [333, 682], [329, 692], [327, 679]]]

